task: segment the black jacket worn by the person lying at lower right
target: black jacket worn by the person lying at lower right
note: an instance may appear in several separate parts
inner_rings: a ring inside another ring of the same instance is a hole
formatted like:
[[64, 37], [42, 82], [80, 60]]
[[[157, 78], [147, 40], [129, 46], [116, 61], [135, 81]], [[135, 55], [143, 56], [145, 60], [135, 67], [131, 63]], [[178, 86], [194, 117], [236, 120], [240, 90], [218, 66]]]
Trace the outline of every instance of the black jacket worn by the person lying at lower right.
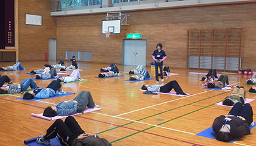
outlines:
[[[246, 120], [241, 120], [239, 117], [236, 116], [227, 117], [232, 119], [228, 121], [226, 124], [230, 125], [230, 134], [233, 138], [239, 139], [244, 135], [250, 134], [249, 125]], [[222, 125], [226, 122], [226, 120], [224, 120], [225, 118], [226, 116], [224, 115], [216, 117], [216, 119], [213, 122], [213, 131], [215, 131], [215, 133], [218, 133]]]

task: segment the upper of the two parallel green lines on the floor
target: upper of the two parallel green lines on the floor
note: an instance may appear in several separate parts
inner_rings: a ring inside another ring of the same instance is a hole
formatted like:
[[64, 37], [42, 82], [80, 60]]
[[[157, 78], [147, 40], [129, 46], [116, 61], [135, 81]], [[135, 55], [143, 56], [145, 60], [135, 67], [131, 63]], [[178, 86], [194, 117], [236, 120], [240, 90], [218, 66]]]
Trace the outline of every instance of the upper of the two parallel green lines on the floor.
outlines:
[[[229, 91], [229, 92], [230, 92], [230, 91]], [[201, 101], [203, 101], [203, 100], [207, 100], [207, 99], [210, 99], [210, 98], [213, 98], [213, 97], [216, 97], [216, 96], [220, 96], [220, 95], [226, 94], [226, 93], [227, 93], [227, 92], [222, 92], [221, 94], [217, 94], [217, 95], [215, 95], [215, 96], [207, 97], [207, 98], [205, 98], [205, 99], [201, 99], [201, 100], [198, 100], [198, 101], [196, 101], [196, 102], [188, 103], [187, 105], [191, 105], [191, 104], [193, 104], [193, 103], [201, 102]], [[168, 111], [172, 111], [172, 110], [174, 110], [174, 109], [182, 108], [182, 107], [187, 106], [187, 105], [182, 105], [182, 106], [179, 106], [179, 107], [177, 107], [177, 108], [172, 108], [172, 109], [169, 109], [169, 110], [167, 110], [167, 111], [163, 111], [163, 112], [161, 112], [161, 113], [153, 114], [152, 116], [144, 117], [144, 118], [139, 119], [139, 120], [136, 120], [136, 121], [148, 119], [149, 117], [154, 117], [154, 116], [157, 116], [157, 115], [159, 115], [159, 114], [163, 114], [163, 113], [166, 113], [166, 112], [168, 112]], [[125, 125], [129, 125], [130, 123], [135, 123], [135, 122], [129, 122], [129, 123], [126, 123], [126, 124], [124, 124], [124, 125], [120, 125], [119, 127], [123, 127], [123, 126], [125, 126]], [[105, 132], [110, 131], [110, 130], [115, 130], [116, 128], [119, 128], [119, 127], [110, 128], [110, 129], [108, 129], [108, 130], [101, 131], [101, 132], [96, 133], [96, 134], [101, 134], [101, 133], [105, 133]]]

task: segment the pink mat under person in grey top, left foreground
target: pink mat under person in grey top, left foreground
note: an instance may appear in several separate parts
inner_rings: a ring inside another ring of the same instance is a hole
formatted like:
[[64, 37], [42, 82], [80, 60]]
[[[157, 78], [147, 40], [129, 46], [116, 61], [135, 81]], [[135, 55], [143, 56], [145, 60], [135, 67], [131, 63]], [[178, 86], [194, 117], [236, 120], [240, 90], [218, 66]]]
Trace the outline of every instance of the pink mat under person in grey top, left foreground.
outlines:
[[[86, 108], [83, 113], [76, 113], [76, 114], [72, 114], [72, 115], [69, 115], [69, 116], [75, 116], [75, 115], [78, 115], [78, 114], [90, 113], [91, 111], [98, 111], [100, 109], [101, 108]], [[41, 114], [31, 113], [31, 116], [39, 117], [39, 118], [45, 119], [45, 120], [57, 120], [57, 119], [62, 119], [63, 117], [68, 117], [68, 116], [45, 117], [45, 116], [43, 116], [43, 113], [41, 113]]]

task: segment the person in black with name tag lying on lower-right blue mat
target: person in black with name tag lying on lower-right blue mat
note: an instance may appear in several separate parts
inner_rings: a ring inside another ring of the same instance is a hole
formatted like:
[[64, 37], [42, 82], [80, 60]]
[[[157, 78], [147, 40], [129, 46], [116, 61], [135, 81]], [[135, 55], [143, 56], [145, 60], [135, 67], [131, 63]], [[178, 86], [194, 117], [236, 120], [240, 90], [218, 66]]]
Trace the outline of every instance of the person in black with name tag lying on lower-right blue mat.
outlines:
[[229, 142], [250, 134], [249, 127], [254, 125], [252, 116], [252, 106], [249, 103], [235, 103], [227, 116], [221, 115], [214, 120], [212, 128], [215, 138]]

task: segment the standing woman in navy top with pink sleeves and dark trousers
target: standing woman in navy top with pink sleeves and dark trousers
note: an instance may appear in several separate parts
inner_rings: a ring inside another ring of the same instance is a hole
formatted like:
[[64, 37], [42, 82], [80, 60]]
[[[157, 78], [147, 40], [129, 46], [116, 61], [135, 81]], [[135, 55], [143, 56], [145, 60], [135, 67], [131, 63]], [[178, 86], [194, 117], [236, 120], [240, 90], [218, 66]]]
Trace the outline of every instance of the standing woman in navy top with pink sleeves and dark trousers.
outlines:
[[158, 80], [158, 66], [160, 68], [160, 74], [161, 74], [161, 82], [163, 82], [163, 60], [166, 59], [165, 51], [162, 50], [163, 45], [157, 44], [157, 50], [154, 51], [152, 54], [152, 58], [155, 60], [155, 80], [157, 80], [156, 83], [159, 82]]

